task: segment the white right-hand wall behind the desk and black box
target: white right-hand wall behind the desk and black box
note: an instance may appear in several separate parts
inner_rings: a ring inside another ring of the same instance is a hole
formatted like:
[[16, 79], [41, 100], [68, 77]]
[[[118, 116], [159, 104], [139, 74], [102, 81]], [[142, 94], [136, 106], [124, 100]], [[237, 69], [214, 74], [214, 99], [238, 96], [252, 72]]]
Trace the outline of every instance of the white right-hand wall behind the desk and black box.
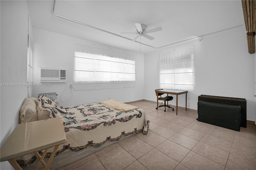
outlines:
[[[247, 120], [255, 121], [254, 55], [248, 53], [244, 26], [170, 46], [145, 54], [145, 96], [156, 100], [154, 90], [159, 88], [159, 53], [194, 45], [195, 88], [188, 92], [188, 108], [197, 109], [198, 96], [213, 95], [245, 98]], [[156, 80], [156, 81], [152, 81]], [[178, 96], [178, 106], [185, 107], [185, 95]], [[176, 98], [171, 102], [176, 105]]]

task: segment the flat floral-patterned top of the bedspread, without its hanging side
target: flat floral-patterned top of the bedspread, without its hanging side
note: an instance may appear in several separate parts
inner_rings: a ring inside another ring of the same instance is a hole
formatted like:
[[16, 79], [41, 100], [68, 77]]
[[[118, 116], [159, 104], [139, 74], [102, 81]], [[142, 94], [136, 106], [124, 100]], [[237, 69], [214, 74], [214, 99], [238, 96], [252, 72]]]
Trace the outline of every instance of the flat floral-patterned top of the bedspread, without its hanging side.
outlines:
[[100, 103], [70, 106], [65, 109], [67, 113], [62, 113], [65, 132], [72, 128], [89, 131], [101, 124], [110, 126], [116, 121], [127, 122], [133, 117], [140, 118], [142, 116], [142, 111], [139, 109], [121, 112]]

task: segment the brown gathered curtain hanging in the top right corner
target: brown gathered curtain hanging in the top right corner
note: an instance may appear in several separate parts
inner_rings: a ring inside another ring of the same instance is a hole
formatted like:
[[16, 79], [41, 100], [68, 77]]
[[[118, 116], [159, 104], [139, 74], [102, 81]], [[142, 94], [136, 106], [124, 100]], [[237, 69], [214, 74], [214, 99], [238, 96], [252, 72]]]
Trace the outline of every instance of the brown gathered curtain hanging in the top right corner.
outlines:
[[248, 52], [253, 54], [255, 53], [256, 2], [254, 0], [242, 0], [242, 8], [247, 31]]

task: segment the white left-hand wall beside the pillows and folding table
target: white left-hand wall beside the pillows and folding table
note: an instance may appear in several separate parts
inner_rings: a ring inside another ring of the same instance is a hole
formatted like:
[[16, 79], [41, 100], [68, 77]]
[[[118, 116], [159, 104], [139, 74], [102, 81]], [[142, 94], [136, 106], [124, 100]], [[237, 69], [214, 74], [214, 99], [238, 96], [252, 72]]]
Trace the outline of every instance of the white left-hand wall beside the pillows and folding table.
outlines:
[[[0, 1], [1, 83], [27, 82], [28, 7], [26, 1]], [[26, 86], [1, 86], [1, 146], [18, 124]], [[12, 169], [1, 162], [3, 170]]]

